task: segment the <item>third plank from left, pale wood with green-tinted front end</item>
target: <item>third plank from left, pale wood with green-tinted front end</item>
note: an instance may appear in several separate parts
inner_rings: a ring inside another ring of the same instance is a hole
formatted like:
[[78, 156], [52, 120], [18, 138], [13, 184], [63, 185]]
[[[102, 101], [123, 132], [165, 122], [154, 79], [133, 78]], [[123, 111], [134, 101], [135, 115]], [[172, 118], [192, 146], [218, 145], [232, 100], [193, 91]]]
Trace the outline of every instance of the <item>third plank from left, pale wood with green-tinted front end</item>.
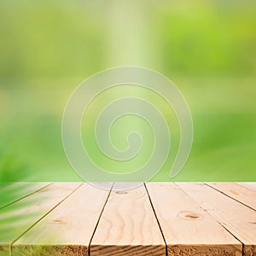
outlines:
[[15, 241], [12, 255], [88, 255], [90, 238], [108, 194], [84, 183]]

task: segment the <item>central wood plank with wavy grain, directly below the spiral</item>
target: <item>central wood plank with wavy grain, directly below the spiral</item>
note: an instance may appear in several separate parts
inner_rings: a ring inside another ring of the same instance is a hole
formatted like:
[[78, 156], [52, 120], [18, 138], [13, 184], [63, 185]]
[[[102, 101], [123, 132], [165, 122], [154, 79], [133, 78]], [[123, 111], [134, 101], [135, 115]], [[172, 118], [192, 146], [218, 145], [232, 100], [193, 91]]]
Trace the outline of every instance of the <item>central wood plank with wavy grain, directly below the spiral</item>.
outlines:
[[[115, 184], [113, 189], [119, 187]], [[90, 255], [165, 255], [166, 245], [142, 185], [112, 191], [90, 244]]]

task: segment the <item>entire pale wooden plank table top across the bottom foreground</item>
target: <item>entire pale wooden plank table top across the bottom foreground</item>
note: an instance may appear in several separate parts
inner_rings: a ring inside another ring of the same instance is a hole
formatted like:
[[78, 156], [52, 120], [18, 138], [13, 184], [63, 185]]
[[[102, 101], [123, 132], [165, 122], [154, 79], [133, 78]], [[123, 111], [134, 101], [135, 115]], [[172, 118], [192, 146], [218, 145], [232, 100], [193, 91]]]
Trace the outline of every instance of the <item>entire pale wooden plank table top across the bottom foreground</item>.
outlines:
[[256, 255], [256, 183], [118, 185], [2, 185], [0, 255]]

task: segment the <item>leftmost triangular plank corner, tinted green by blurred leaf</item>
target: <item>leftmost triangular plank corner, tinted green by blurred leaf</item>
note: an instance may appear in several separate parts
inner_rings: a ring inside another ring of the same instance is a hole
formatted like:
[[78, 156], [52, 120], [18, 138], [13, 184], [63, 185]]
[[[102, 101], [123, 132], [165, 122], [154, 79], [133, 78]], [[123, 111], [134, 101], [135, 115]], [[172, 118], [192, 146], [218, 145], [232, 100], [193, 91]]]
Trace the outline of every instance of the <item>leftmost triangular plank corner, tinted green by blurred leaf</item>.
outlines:
[[0, 209], [32, 193], [49, 186], [50, 183], [0, 183]]

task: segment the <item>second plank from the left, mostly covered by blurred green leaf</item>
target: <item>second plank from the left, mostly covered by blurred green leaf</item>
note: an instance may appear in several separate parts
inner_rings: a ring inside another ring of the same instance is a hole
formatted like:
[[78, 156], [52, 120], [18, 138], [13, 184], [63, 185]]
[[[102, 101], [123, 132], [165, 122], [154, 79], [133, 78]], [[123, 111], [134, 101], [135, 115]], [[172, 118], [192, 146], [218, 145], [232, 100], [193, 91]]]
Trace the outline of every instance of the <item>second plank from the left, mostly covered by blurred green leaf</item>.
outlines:
[[0, 209], [0, 255], [40, 218], [70, 195], [81, 183], [53, 183]]

